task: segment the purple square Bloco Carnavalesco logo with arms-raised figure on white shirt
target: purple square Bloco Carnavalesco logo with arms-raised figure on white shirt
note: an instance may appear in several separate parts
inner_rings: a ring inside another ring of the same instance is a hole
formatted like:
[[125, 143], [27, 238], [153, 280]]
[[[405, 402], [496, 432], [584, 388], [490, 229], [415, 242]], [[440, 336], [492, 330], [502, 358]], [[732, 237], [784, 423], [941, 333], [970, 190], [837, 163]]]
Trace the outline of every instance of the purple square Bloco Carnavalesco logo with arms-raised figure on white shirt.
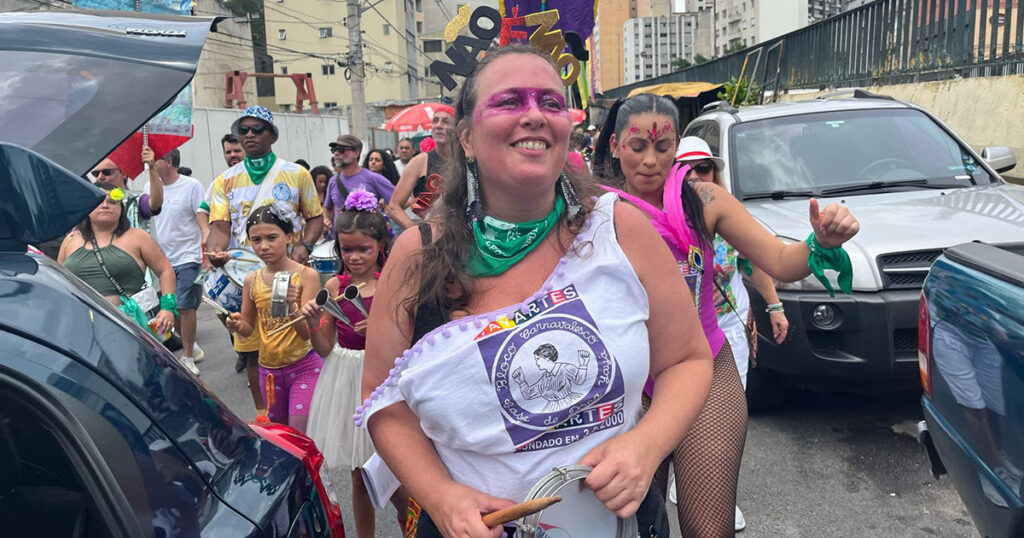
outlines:
[[574, 286], [476, 336], [516, 452], [560, 447], [623, 423], [623, 374]]

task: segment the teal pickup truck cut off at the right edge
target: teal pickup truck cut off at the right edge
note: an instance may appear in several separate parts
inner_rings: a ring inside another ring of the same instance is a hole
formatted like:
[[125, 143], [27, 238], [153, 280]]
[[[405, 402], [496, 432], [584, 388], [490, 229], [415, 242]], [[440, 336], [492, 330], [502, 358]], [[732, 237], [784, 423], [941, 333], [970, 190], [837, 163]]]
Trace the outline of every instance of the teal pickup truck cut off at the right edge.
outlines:
[[1024, 536], [1024, 243], [946, 249], [922, 290], [918, 347], [933, 473], [948, 472], [982, 536]]

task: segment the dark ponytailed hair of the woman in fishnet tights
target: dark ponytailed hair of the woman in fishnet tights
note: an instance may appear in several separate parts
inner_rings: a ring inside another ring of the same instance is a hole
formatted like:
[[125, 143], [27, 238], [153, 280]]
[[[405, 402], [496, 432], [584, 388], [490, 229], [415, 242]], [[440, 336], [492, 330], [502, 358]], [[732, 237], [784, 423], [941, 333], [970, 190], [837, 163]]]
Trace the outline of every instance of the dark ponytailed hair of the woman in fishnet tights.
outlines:
[[[626, 129], [632, 124], [635, 116], [640, 114], [656, 114], [666, 116], [672, 120], [672, 126], [676, 130], [676, 143], [679, 143], [679, 109], [676, 104], [668, 97], [641, 93], [628, 99], [618, 99], [611, 109], [608, 110], [608, 118], [601, 129], [601, 135], [597, 138], [594, 148], [594, 175], [598, 181], [612, 187], [626, 190], [626, 176], [623, 175], [623, 168], [618, 159], [611, 155], [611, 135], [614, 134], [617, 140], [622, 140], [626, 135]], [[700, 197], [693, 190], [689, 181], [683, 181], [683, 211], [686, 213], [686, 223], [691, 230], [707, 243], [705, 247], [712, 244], [714, 237], [708, 230], [708, 223], [703, 217], [703, 204]], [[707, 252], [708, 249], [705, 248]]]

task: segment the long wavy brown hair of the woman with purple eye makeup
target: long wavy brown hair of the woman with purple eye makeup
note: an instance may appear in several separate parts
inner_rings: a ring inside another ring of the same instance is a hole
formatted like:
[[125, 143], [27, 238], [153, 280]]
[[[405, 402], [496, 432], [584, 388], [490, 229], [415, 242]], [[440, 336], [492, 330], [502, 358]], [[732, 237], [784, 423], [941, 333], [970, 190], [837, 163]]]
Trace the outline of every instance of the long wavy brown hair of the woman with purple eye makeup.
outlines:
[[[474, 248], [474, 240], [466, 216], [466, 153], [459, 143], [459, 135], [472, 127], [473, 111], [479, 97], [477, 79], [480, 73], [498, 58], [510, 54], [529, 54], [544, 58], [552, 71], [557, 73], [557, 68], [547, 54], [528, 46], [510, 45], [487, 50], [486, 56], [462, 83], [455, 106], [455, 132], [449, 144], [449, 155], [444, 159], [442, 194], [434, 205], [440, 222], [440, 234], [436, 241], [423, 248], [422, 262], [419, 266], [411, 264], [407, 275], [410, 282], [419, 282], [416, 295], [403, 303], [410, 317], [416, 316], [421, 303], [434, 304], [442, 313], [465, 309], [472, 297], [473, 277], [466, 271], [466, 264]], [[564, 226], [569, 233], [578, 234], [593, 208], [591, 198], [598, 192], [586, 169], [578, 171], [566, 166], [564, 172], [584, 207], [571, 220], [567, 213], [563, 213], [558, 230], [561, 231]]]

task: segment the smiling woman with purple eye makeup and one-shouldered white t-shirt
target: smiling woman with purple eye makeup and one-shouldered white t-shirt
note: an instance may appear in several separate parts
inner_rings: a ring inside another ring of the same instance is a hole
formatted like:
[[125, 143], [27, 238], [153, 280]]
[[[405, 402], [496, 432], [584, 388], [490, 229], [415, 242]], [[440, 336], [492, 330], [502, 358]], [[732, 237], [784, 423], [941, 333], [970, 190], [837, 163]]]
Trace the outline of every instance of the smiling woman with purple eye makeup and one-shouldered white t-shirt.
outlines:
[[500, 536], [482, 512], [574, 464], [595, 509], [651, 529], [651, 477], [707, 396], [665, 244], [566, 166], [563, 91], [543, 53], [487, 51], [460, 90], [439, 218], [399, 236], [377, 288], [356, 422], [422, 506], [417, 536]]

